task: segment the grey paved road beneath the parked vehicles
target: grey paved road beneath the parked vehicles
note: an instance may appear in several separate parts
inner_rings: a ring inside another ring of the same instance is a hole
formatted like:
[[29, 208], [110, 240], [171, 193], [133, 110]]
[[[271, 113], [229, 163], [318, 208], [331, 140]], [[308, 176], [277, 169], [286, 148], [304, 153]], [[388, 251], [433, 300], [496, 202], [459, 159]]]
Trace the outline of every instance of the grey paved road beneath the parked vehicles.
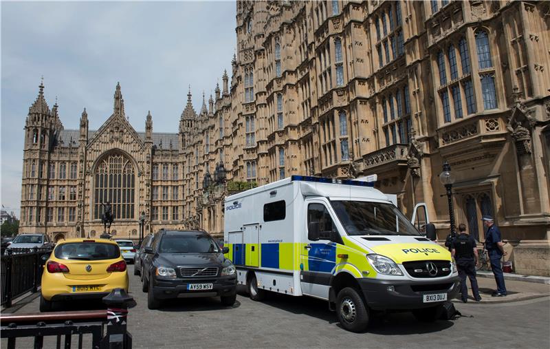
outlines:
[[[355, 334], [340, 328], [326, 302], [309, 297], [272, 295], [259, 303], [241, 292], [233, 307], [215, 298], [177, 299], [148, 310], [133, 266], [129, 273], [137, 301], [129, 315], [134, 348], [550, 348], [550, 297], [459, 303], [456, 308], [467, 317], [434, 324], [417, 323], [410, 313], [391, 314]], [[38, 303], [34, 299], [17, 313], [38, 311]], [[98, 305], [69, 308], [83, 306]], [[20, 348], [25, 343], [30, 344]]]

